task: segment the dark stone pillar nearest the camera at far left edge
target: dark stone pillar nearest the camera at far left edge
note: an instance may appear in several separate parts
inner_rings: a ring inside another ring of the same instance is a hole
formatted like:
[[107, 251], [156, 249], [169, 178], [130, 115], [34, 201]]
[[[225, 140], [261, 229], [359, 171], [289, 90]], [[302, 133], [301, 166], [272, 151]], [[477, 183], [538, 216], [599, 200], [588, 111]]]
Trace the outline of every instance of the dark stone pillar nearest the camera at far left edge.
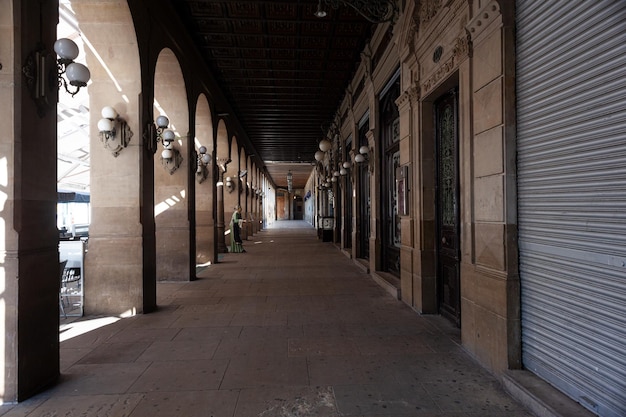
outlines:
[[15, 402], [59, 376], [57, 86], [53, 79], [38, 108], [22, 75], [39, 42], [52, 51], [59, 6], [0, 4], [0, 398]]

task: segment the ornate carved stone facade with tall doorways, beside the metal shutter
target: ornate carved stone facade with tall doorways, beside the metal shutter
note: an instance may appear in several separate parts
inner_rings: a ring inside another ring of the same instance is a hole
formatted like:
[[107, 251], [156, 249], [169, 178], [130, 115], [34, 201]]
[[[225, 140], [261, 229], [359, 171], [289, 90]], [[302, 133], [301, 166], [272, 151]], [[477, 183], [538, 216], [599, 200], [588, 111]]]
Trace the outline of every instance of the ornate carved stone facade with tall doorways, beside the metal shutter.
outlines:
[[[438, 313], [433, 102], [458, 88], [461, 335], [467, 350], [494, 372], [520, 366], [514, 15], [512, 5], [502, 3], [504, 10], [495, 0], [407, 2], [393, 27], [377, 28], [339, 111], [346, 116], [343, 134], [353, 137], [369, 115], [370, 195], [380, 201], [386, 174], [376, 155], [377, 106], [400, 68], [400, 165], [408, 169], [410, 202], [401, 217], [400, 296], [420, 313]], [[346, 201], [357, 213], [359, 185], [355, 176], [351, 180], [356, 197]], [[384, 272], [378, 209], [372, 204], [370, 219], [355, 219], [371, 224], [372, 274]], [[356, 258], [357, 246], [350, 250]]]

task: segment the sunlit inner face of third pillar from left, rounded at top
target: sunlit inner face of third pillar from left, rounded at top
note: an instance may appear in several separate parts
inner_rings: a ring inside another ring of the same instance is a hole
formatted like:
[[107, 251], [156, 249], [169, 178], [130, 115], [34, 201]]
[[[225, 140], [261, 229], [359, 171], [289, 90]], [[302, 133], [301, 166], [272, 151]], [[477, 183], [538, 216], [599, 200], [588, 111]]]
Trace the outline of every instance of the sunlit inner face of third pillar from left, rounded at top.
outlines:
[[189, 104], [181, 65], [169, 48], [160, 51], [154, 71], [154, 116], [169, 119], [175, 134], [172, 157], [163, 144], [154, 155], [154, 201], [157, 281], [187, 281], [190, 271], [189, 176], [187, 157]]

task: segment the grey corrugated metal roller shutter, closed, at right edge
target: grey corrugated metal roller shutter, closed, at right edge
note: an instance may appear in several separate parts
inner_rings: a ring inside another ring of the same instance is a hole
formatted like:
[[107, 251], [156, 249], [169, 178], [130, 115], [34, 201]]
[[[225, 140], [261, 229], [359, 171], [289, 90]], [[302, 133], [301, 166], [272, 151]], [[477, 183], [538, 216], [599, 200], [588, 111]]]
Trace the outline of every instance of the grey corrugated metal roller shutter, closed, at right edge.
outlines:
[[518, 0], [524, 366], [626, 416], [626, 1]]

